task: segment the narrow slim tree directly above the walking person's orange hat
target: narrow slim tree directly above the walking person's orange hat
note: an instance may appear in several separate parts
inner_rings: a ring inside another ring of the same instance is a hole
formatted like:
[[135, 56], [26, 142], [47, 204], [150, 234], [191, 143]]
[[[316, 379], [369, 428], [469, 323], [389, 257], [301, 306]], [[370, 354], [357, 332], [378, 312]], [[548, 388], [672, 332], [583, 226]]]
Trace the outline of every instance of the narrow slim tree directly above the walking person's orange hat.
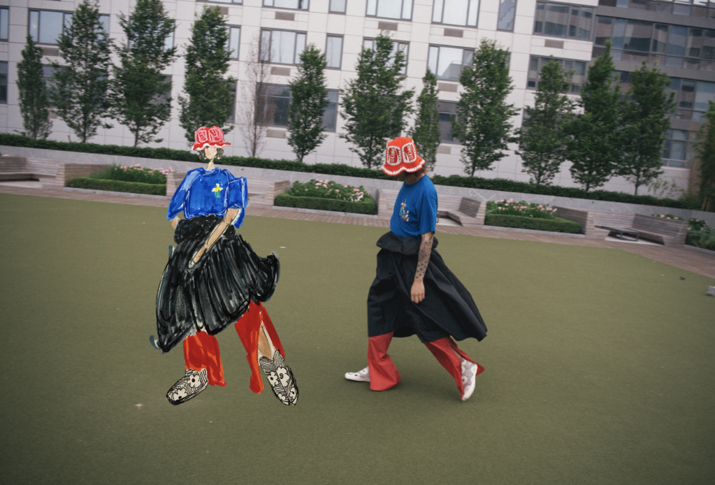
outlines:
[[417, 152], [425, 159], [425, 166], [431, 172], [437, 163], [437, 147], [440, 146], [440, 114], [437, 94], [437, 76], [427, 68], [422, 78], [422, 92], [417, 98], [417, 119], [415, 127], [408, 134], [415, 140]]

